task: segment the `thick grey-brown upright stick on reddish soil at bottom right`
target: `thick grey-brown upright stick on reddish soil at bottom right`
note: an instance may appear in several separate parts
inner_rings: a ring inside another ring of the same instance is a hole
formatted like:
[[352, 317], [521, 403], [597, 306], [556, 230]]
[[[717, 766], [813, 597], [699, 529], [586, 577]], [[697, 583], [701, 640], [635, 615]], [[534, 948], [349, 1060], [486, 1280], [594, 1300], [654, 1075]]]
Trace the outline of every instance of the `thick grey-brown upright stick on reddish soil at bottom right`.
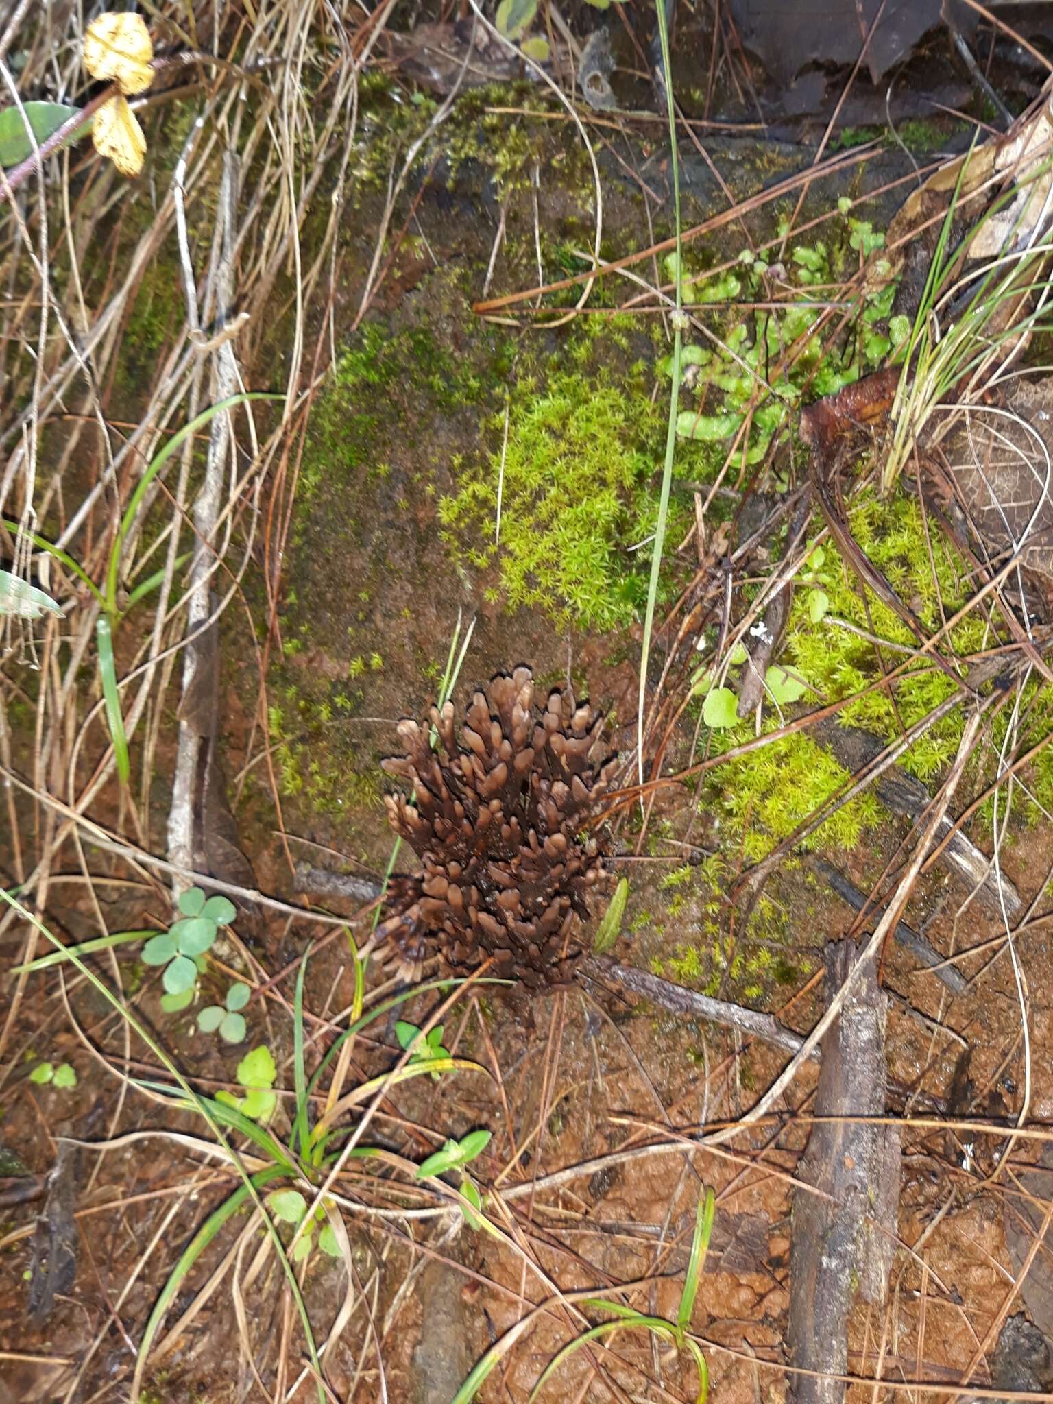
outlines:
[[[844, 984], [858, 958], [855, 942], [827, 946], [827, 987]], [[817, 1116], [880, 1116], [889, 1081], [885, 1059], [887, 1001], [876, 962], [854, 984], [821, 1042]], [[793, 1196], [788, 1346], [796, 1369], [796, 1404], [841, 1404], [845, 1386], [823, 1375], [848, 1366], [848, 1314], [856, 1292], [879, 1303], [889, 1283], [900, 1200], [900, 1139], [894, 1126], [845, 1120], [817, 1123], [797, 1167], [813, 1186]]]

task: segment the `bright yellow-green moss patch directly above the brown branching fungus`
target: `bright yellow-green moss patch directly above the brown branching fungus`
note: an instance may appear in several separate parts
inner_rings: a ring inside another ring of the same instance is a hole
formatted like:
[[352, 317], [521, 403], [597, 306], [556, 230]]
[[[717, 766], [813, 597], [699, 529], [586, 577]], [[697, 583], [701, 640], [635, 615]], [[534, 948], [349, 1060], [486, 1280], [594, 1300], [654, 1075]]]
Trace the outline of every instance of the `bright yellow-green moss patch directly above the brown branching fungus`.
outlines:
[[[602, 343], [605, 358], [623, 350], [615, 324]], [[507, 442], [504, 414], [494, 416], [487, 439], [496, 446], [483, 462], [455, 465], [459, 490], [439, 501], [439, 522], [455, 560], [497, 567], [510, 607], [607, 630], [630, 622], [646, 600], [667, 410], [654, 402], [640, 362], [619, 373], [600, 361], [600, 350], [590, 331], [552, 358], [548, 378], [519, 378]], [[677, 477], [708, 476], [706, 446], [685, 448]], [[685, 496], [674, 497], [670, 541], [687, 521]], [[675, 569], [664, 576], [668, 594]]]

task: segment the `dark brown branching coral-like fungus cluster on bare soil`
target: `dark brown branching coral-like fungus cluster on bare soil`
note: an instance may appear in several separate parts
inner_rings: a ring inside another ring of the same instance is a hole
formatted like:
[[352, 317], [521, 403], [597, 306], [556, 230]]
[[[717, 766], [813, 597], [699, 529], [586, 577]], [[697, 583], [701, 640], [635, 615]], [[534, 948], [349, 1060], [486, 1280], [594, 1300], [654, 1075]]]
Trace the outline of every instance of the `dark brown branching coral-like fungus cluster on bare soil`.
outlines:
[[569, 981], [588, 894], [607, 880], [583, 833], [616, 764], [595, 761], [601, 731], [570, 692], [535, 702], [522, 667], [475, 694], [461, 740], [452, 702], [399, 724], [406, 754], [383, 765], [413, 795], [388, 795], [388, 813], [423, 872], [392, 880], [378, 936], [403, 966], [438, 951], [462, 970], [491, 956], [489, 973], [532, 988]]

